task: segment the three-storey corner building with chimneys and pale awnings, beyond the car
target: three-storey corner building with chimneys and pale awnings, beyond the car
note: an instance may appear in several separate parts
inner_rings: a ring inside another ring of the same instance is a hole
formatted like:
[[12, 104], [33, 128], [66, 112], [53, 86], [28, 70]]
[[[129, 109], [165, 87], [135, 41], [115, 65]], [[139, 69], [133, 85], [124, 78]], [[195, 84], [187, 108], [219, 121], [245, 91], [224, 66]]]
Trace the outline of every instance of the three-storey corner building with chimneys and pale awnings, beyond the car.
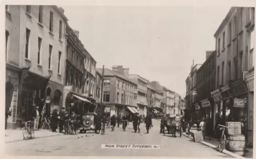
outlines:
[[[102, 69], [96, 69], [102, 75]], [[109, 115], [139, 113], [137, 107], [137, 84], [124, 74], [122, 66], [104, 69], [103, 103]]]

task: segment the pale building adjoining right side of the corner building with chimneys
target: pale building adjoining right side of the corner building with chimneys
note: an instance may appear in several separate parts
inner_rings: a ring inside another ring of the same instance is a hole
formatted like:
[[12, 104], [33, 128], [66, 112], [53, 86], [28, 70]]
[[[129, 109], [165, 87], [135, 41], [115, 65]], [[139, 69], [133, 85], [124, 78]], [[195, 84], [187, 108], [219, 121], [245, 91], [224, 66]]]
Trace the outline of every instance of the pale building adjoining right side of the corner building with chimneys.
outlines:
[[[129, 71], [129, 70], [128, 70]], [[137, 83], [137, 105], [140, 115], [147, 115], [147, 85], [148, 80], [139, 75], [129, 74], [129, 79]]]

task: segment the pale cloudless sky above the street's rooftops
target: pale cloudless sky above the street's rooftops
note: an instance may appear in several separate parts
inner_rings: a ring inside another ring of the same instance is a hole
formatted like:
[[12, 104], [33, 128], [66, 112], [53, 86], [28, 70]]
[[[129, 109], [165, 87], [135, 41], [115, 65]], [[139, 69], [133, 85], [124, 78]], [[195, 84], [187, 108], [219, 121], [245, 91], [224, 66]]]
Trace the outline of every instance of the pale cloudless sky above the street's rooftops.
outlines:
[[215, 50], [214, 33], [230, 7], [61, 6], [71, 28], [96, 60], [96, 68], [130, 68], [186, 95], [192, 61]]

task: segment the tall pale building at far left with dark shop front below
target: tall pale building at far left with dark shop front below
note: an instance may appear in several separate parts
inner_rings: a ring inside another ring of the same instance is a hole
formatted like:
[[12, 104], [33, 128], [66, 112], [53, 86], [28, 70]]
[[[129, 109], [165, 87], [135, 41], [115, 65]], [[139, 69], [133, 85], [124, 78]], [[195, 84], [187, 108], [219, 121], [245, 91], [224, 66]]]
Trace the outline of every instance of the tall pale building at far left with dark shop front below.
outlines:
[[[30, 119], [33, 106], [39, 106], [40, 112], [44, 109], [48, 87], [53, 92], [48, 97], [50, 103], [62, 105], [67, 20], [57, 6], [6, 6], [6, 105], [14, 105], [12, 118], [8, 118], [12, 129], [20, 127], [22, 120]], [[15, 47], [10, 48], [12, 44]], [[17, 79], [17, 72], [10, 72], [18, 69], [13, 66], [20, 68], [19, 84], [13, 80]], [[11, 94], [14, 96], [10, 97]]]

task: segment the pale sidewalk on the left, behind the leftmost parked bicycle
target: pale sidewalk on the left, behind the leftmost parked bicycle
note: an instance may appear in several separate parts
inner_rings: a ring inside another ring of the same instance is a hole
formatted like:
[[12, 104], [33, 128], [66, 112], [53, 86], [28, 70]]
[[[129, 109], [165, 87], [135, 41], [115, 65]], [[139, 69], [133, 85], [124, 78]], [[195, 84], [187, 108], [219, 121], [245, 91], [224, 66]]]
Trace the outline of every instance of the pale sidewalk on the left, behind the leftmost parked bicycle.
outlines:
[[[62, 133], [53, 133], [52, 131], [40, 129], [35, 131], [35, 139], [63, 135]], [[5, 130], [5, 143], [23, 141], [22, 129]]]

